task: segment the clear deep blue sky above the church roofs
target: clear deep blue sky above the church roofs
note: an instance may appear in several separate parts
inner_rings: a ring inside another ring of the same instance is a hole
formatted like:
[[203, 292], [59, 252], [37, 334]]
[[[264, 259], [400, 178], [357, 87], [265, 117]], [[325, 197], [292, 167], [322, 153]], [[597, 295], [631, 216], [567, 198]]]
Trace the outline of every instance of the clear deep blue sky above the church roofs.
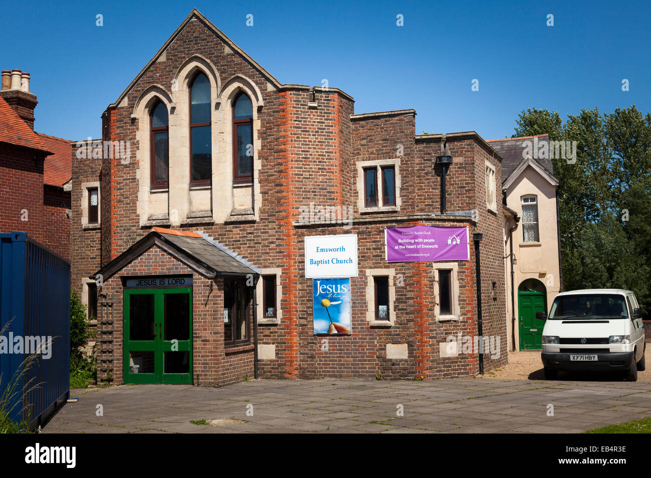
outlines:
[[281, 83], [327, 79], [356, 113], [413, 108], [417, 133], [503, 138], [528, 107], [651, 110], [648, 2], [527, 3], [4, 1], [0, 69], [31, 73], [36, 131], [100, 137], [104, 109], [196, 7]]

